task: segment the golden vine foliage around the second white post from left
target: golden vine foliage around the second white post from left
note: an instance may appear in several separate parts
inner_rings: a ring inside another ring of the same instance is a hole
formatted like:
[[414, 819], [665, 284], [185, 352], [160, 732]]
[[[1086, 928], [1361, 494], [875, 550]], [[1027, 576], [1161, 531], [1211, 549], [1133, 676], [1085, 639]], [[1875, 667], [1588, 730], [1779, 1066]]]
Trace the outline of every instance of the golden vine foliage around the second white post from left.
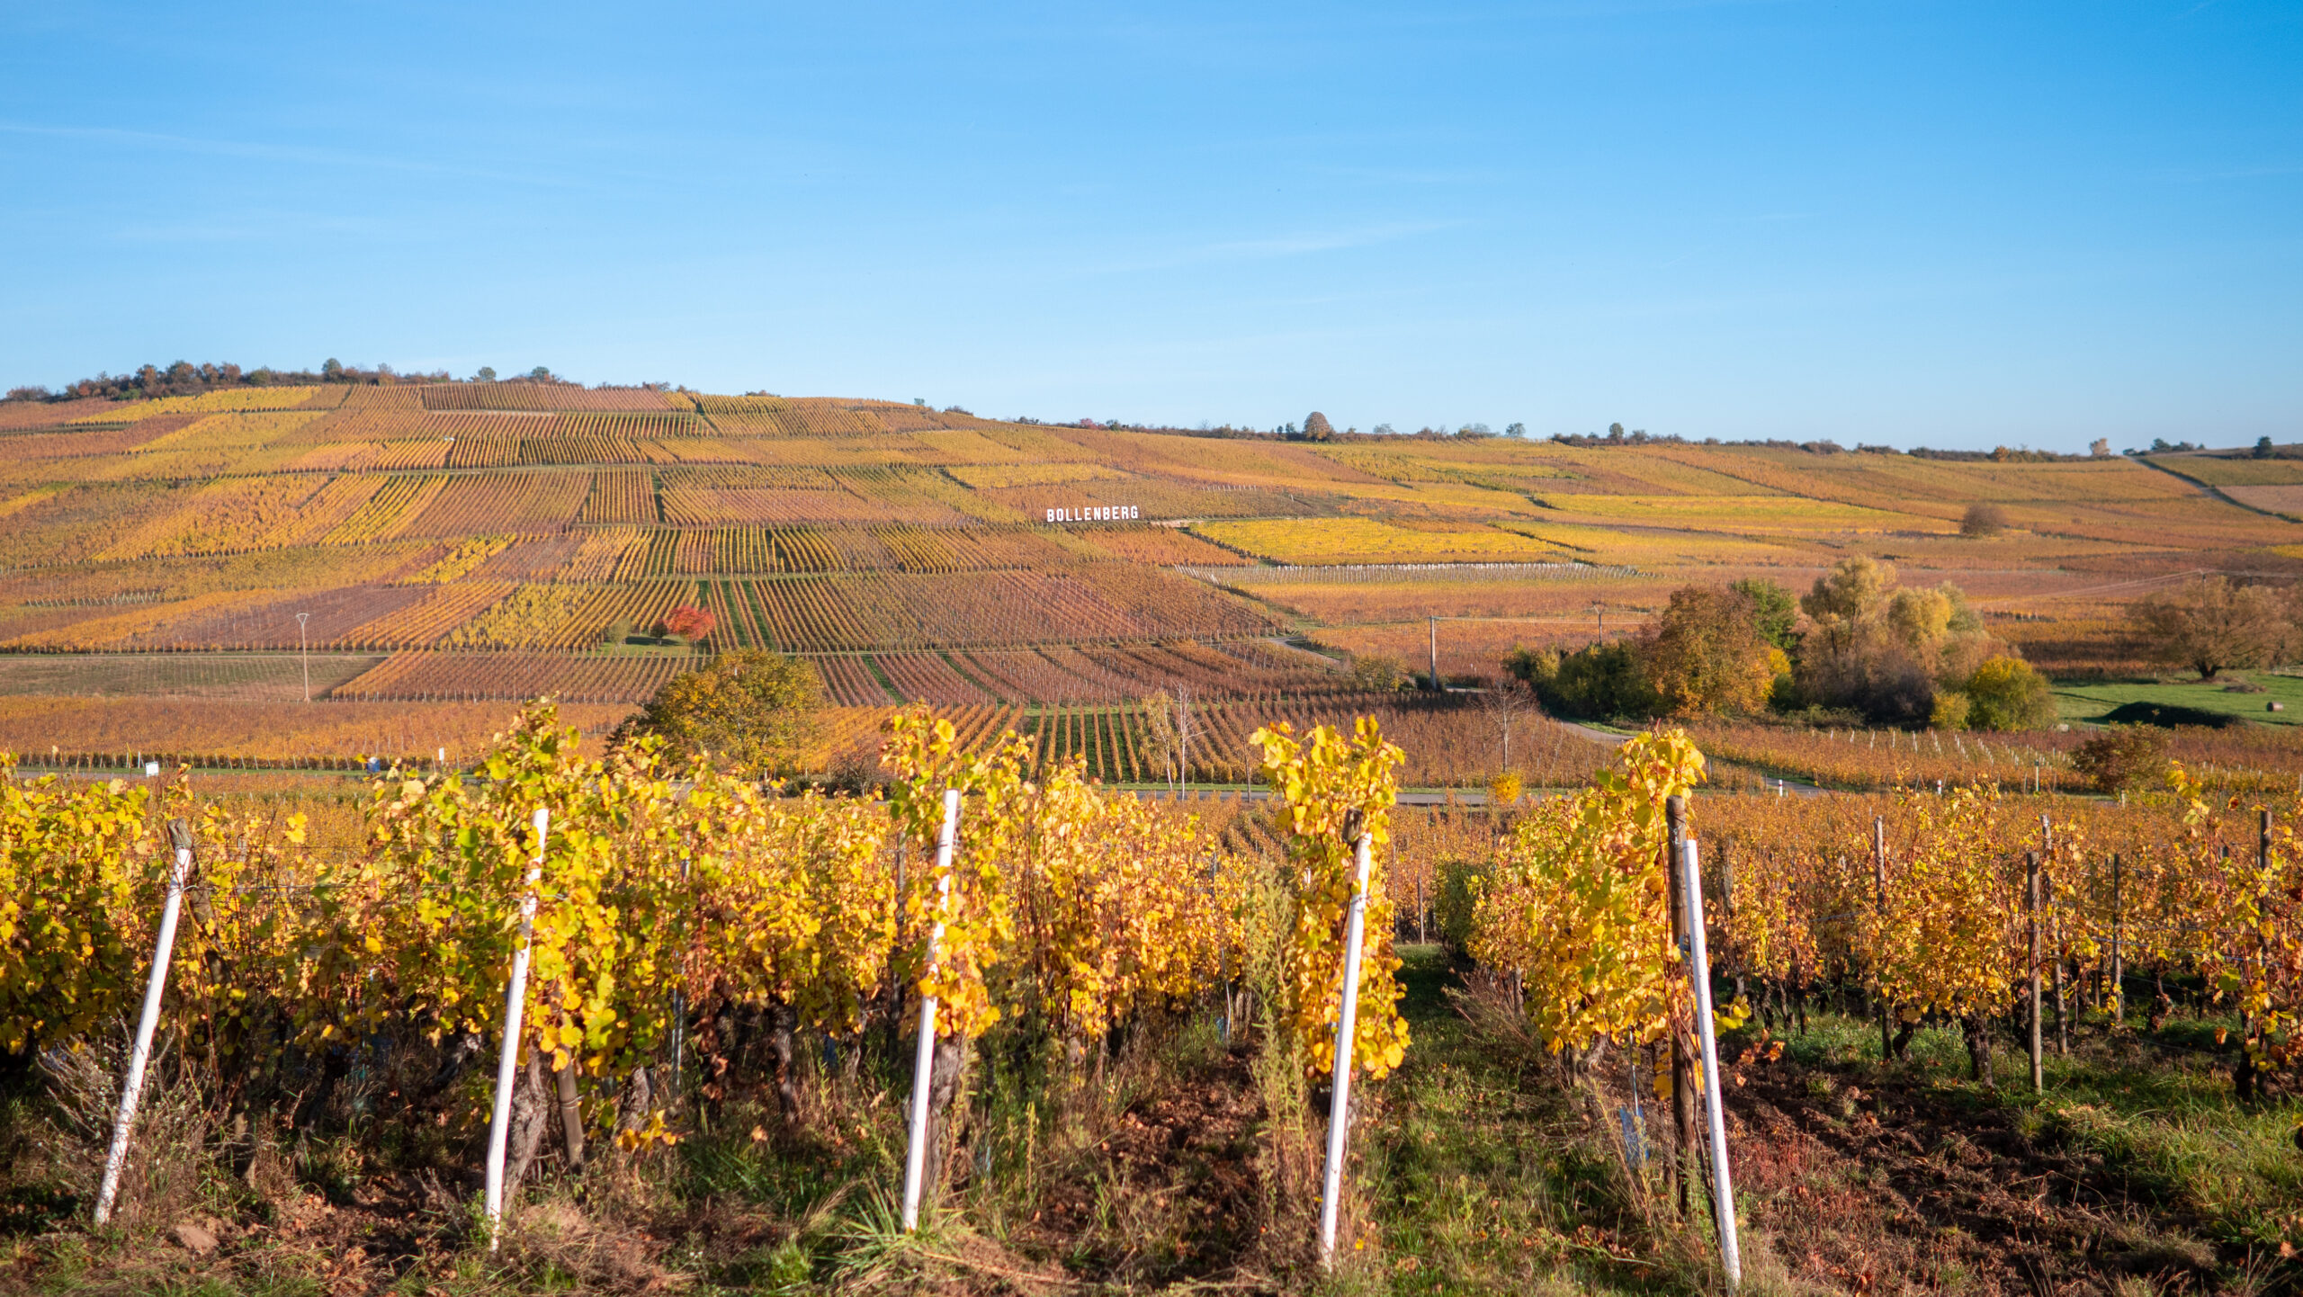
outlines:
[[[677, 933], [670, 783], [654, 751], [583, 760], [550, 703], [520, 714], [481, 779], [382, 779], [368, 806], [371, 850], [322, 875], [327, 915], [311, 988], [348, 1025], [410, 1014], [444, 1032], [495, 1034], [518, 947], [520, 901], [537, 894], [523, 1007], [527, 1044], [590, 1074], [629, 1067], [666, 1030]], [[539, 878], [530, 825], [550, 813]]]

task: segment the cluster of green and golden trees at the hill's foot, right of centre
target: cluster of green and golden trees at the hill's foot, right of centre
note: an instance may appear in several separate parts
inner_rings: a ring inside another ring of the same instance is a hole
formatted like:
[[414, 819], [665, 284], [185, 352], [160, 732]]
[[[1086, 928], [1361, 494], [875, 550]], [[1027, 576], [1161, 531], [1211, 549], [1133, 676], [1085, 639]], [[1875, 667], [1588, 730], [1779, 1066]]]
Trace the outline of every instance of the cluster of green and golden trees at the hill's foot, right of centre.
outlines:
[[1766, 578], [1683, 585], [1628, 640], [1515, 650], [1506, 670], [1568, 716], [1856, 712], [1870, 723], [2020, 730], [2054, 721], [2047, 682], [1948, 581], [1840, 560], [1794, 599]]

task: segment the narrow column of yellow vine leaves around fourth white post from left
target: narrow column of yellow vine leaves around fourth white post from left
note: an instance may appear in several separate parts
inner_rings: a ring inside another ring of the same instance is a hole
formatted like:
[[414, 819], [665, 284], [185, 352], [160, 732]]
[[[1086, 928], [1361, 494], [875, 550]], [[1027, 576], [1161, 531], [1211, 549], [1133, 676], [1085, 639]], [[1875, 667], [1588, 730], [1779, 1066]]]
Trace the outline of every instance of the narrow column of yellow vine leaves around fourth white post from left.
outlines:
[[1283, 945], [1280, 998], [1301, 1060], [1313, 1071], [1336, 1069], [1336, 1025], [1343, 1018], [1345, 917], [1356, 880], [1356, 839], [1373, 843], [1368, 908], [1361, 926], [1359, 1009], [1352, 1064], [1386, 1076], [1407, 1055], [1400, 1018], [1400, 961], [1391, 954], [1391, 896], [1382, 859], [1391, 841], [1391, 804], [1405, 753], [1384, 742], [1375, 716], [1361, 716], [1352, 737], [1320, 726], [1299, 744], [1285, 721], [1251, 735], [1262, 749], [1262, 779], [1283, 797], [1287, 864], [1294, 871], [1294, 921]]

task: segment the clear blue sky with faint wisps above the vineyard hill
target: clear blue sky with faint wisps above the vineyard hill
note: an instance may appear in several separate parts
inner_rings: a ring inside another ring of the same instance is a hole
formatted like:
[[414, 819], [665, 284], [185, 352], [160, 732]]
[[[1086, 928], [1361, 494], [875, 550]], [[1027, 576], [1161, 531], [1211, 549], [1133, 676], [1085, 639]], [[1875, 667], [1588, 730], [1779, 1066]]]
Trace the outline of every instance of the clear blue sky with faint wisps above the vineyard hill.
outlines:
[[12, 5], [0, 382], [2303, 440], [2303, 7]]

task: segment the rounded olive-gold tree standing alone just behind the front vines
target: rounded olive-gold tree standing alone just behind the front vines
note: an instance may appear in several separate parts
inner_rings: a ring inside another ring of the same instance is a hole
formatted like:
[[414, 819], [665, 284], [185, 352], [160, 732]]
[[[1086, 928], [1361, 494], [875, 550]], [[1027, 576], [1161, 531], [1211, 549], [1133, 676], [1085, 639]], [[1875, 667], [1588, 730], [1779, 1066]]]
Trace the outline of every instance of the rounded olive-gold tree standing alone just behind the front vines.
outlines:
[[735, 650], [675, 675], [626, 721], [661, 735], [679, 758], [709, 758], [744, 772], [790, 769], [815, 737], [822, 705], [815, 668], [767, 650]]

